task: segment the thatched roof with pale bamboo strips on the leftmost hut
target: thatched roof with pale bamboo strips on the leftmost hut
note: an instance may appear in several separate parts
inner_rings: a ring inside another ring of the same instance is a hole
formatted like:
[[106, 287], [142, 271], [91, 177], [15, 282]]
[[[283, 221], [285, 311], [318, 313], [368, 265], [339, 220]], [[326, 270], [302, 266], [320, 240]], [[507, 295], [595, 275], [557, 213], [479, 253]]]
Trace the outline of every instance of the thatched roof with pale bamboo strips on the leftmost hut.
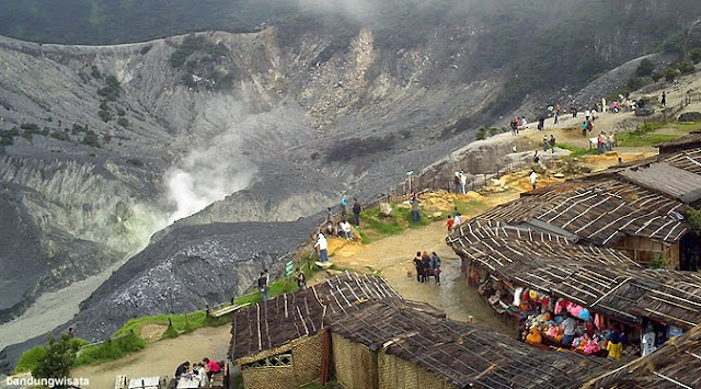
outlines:
[[345, 272], [304, 290], [239, 310], [232, 319], [229, 357], [251, 357], [314, 335], [324, 327], [325, 317], [357, 310], [367, 300], [402, 297], [382, 278]]

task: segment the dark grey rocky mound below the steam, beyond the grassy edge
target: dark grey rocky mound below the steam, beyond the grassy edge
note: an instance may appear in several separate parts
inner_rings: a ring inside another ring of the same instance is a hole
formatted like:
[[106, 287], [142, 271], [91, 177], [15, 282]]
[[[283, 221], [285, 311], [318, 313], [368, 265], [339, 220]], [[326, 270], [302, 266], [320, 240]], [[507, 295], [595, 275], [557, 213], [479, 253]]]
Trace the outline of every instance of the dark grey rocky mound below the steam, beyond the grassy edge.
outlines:
[[263, 268], [275, 278], [279, 258], [309, 238], [318, 220], [185, 226], [135, 255], [81, 305], [78, 335], [105, 339], [128, 319], [181, 313], [251, 289]]

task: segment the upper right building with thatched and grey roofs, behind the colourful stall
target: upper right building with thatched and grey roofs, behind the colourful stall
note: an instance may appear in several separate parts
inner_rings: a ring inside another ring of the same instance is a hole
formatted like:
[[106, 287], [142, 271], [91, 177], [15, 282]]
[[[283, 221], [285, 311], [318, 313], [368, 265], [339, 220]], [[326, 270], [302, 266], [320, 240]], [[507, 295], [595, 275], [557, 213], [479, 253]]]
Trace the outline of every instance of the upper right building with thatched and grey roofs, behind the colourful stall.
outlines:
[[689, 149], [527, 192], [474, 220], [619, 249], [643, 266], [696, 271], [701, 238], [686, 211], [700, 206], [701, 149]]

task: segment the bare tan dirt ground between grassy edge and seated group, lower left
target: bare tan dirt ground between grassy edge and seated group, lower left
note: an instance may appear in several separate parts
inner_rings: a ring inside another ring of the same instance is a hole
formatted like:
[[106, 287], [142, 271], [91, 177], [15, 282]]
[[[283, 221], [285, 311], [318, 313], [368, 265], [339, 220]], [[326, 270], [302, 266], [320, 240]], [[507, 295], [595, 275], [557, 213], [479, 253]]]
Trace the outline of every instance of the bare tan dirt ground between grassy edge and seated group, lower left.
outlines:
[[231, 328], [203, 328], [176, 339], [158, 341], [138, 353], [119, 361], [99, 366], [83, 366], [74, 369], [73, 377], [87, 377], [91, 388], [112, 388], [118, 375], [129, 378], [169, 376], [185, 361], [196, 362], [203, 357], [215, 361], [226, 359]]

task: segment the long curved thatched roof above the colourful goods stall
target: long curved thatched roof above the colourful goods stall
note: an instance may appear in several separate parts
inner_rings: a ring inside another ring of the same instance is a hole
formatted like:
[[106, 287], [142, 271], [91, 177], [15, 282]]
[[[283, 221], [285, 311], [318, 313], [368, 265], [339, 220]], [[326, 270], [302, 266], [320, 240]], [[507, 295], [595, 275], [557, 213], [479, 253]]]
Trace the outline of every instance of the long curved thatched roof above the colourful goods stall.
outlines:
[[645, 270], [623, 252], [473, 221], [447, 239], [492, 274], [630, 323], [701, 324], [701, 274]]

